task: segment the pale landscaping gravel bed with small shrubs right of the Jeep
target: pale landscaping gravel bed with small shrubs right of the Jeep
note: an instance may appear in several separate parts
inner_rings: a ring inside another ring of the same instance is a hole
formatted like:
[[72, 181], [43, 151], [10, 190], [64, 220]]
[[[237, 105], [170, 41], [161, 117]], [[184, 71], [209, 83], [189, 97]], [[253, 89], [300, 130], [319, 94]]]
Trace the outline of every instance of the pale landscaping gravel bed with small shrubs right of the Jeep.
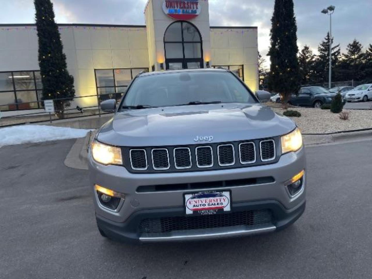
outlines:
[[[271, 107], [279, 115], [285, 111], [281, 107]], [[349, 119], [340, 119], [339, 113], [314, 108], [289, 108], [301, 113], [301, 117], [291, 117], [303, 134], [325, 134], [339, 131], [372, 128], [372, 110], [349, 110]]]

